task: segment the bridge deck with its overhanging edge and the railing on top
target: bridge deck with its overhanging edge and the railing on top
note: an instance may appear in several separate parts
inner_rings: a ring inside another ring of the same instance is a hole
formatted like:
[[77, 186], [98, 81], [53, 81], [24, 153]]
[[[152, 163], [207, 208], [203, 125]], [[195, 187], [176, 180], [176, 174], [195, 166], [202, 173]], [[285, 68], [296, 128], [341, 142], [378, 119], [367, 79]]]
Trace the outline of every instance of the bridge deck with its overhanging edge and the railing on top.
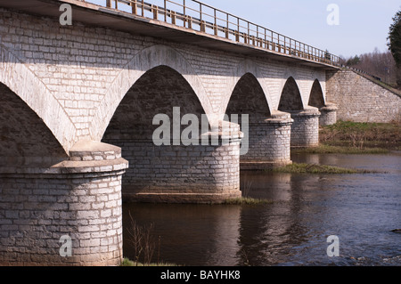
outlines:
[[207, 48], [337, 69], [340, 58], [196, 0], [0, 0], [0, 6]]

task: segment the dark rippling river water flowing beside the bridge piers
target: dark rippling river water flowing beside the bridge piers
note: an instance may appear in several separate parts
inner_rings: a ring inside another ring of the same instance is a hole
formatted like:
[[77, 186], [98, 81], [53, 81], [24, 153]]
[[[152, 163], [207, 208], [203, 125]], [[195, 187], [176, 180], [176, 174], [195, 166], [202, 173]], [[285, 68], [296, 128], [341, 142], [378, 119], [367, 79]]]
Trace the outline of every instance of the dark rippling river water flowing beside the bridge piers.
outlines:
[[[401, 153], [296, 155], [294, 162], [379, 170], [380, 174], [242, 172], [241, 190], [272, 204], [124, 204], [154, 225], [154, 261], [186, 266], [401, 265]], [[329, 257], [327, 238], [339, 238]], [[127, 232], [124, 256], [135, 259]]]

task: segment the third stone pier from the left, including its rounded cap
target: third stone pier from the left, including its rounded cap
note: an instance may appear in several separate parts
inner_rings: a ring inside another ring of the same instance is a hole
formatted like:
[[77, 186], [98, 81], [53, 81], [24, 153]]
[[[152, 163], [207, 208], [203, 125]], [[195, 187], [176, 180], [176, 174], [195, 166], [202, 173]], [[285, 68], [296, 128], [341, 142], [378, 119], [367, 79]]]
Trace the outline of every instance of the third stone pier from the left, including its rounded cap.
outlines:
[[291, 115], [281, 111], [275, 111], [265, 120], [250, 121], [249, 151], [241, 156], [241, 170], [263, 170], [291, 164], [292, 122]]

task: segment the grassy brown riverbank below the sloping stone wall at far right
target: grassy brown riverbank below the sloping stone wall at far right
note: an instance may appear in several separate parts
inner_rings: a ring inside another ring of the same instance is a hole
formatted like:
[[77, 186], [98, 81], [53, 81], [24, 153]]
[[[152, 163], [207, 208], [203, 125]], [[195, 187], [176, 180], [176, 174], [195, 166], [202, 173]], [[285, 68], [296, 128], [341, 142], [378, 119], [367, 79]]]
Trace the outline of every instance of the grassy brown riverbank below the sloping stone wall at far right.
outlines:
[[320, 128], [320, 145], [293, 149], [293, 153], [311, 154], [386, 154], [401, 150], [401, 122], [357, 123], [339, 121]]

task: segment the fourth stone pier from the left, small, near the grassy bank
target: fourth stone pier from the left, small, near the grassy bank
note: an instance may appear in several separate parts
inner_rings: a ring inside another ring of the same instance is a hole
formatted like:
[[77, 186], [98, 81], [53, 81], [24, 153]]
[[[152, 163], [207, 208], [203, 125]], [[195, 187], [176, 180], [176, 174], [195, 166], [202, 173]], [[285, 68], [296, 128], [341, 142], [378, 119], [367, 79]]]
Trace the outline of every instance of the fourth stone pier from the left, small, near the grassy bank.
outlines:
[[319, 145], [319, 118], [317, 108], [291, 110], [294, 123], [291, 127], [291, 147], [315, 147]]

